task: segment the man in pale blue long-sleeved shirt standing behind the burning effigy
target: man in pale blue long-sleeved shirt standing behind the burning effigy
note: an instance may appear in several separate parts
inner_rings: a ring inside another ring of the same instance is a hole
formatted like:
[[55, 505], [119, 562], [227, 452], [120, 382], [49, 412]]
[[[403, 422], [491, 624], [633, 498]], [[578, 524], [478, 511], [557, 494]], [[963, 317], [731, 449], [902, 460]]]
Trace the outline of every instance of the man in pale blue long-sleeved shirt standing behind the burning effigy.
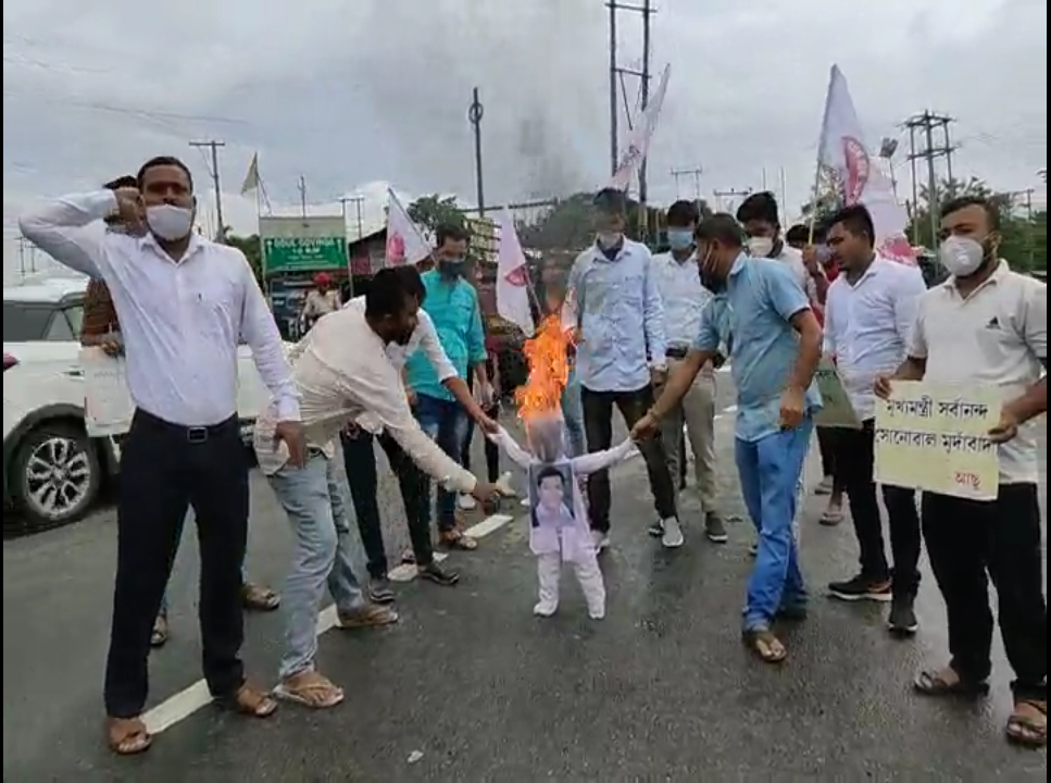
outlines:
[[[630, 427], [653, 402], [653, 387], [667, 375], [664, 308], [653, 259], [641, 243], [624, 236], [627, 197], [608, 188], [592, 203], [595, 245], [580, 253], [570, 273], [566, 301], [579, 327], [577, 376], [589, 451], [612, 446], [613, 409]], [[670, 447], [678, 446], [678, 438]], [[664, 546], [683, 546], [675, 483], [660, 438], [639, 445], [653, 492]], [[588, 512], [596, 549], [610, 544], [610, 475], [588, 480]]]

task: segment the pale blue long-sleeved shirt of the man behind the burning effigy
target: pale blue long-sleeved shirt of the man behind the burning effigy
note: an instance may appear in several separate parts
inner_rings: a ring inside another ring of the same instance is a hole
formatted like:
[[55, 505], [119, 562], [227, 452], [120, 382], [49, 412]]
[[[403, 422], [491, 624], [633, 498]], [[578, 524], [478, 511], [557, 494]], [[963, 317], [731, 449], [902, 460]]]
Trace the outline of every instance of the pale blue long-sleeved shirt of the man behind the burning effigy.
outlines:
[[649, 249], [625, 239], [611, 260], [597, 246], [577, 257], [570, 273], [583, 343], [577, 377], [591, 391], [637, 391], [652, 364], [664, 368], [664, 308]]

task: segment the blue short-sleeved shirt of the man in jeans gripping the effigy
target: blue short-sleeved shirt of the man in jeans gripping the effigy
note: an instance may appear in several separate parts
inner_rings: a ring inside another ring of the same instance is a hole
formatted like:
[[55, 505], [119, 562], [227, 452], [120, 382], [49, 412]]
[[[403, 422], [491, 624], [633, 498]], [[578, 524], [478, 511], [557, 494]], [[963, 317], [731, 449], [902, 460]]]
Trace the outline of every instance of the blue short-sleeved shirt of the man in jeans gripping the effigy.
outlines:
[[[791, 272], [779, 261], [739, 256], [726, 290], [704, 309], [695, 347], [730, 347], [730, 372], [737, 386], [737, 437], [761, 440], [780, 431], [780, 398], [799, 356], [799, 335], [790, 319], [810, 309]], [[814, 383], [806, 408], [821, 409]]]

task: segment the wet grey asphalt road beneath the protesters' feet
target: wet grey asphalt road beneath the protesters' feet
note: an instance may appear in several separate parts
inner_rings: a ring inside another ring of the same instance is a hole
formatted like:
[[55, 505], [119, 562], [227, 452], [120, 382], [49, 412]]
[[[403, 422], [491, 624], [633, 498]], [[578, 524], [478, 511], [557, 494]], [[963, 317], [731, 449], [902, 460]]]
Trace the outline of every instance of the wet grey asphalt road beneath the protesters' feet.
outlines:
[[[723, 389], [721, 407], [730, 402]], [[718, 426], [722, 499], [727, 512], [742, 515], [731, 415]], [[477, 444], [475, 450], [481, 465]], [[816, 455], [808, 470], [816, 480]], [[380, 492], [397, 554], [405, 540], [400, 499], [389, 477]], [[249, 568], [279, 585], [287, 521], [258, 476], [252, 499]], [[1002, 739], [1010, 674], [1001, 649], [986, 704], [933, 704], [911, 694], [917, 667], [946, 655], [943, 610], [930, 580], [916, 639], [889, 638], [880, 607], [817, 599], [810, 620], [787, 637], [792, 659], [772, 670], [740, 644], [750, 525], [733, 524], [726, 546], [695, 533], [684, 549], [661, 551], [645, 534], [652, 507], [638, 459], [614, 473], [614, 509], [604, 622], [586, 619], [568, 575], [560, 616], [533, 617], [534, 559], [526, 529], [514, 520], [476, 552], [452, 556], [463, 572], [458, 587], [401, 585], [399, 625], [324, 634], [318, 663], [346, 687], [345, 705], [324, 713], [284, 706], [266, 722], [211, 706], [190, 711], [192, 694], [185, 692], [199, 680], [200, 652], [189, 525], [172, 583], [173, 638], [152, 662], [151, 701], [174, 704], [167, 714], [177, 720], [138, 759], [114, 758], [102, 745], [112, 510], [5, 542], [3, 780], [1046, 779], [1044, 754]], [[684, 519], [695, 531], [697, 509], [688, 493]], [[819, 511], [811, 499], [802, 531], [817, 589], [849, 575], [856, 557], [849, 525], [823, 529]], [[273, 683], [279, 642], [277, 616], [250, 619], [245, 654], [261, 683]]]

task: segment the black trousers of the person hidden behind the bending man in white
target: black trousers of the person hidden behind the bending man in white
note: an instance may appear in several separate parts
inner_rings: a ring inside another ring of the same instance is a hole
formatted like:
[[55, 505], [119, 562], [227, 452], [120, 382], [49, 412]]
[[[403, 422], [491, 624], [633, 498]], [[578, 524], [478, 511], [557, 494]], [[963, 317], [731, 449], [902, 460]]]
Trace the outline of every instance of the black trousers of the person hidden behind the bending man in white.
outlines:
[[[384, 433], [374, 437], [370, 433], [359, 431], [354, 436], [343, 435], [343, 465], [347, 469], [347, 483], [350, 485], [350, 499], [354, 505], [354, 515], [358, 518], [358, 531], [365, 549], [368, 563], [368, 575], [375, 580], [387, 579], [387, 550], [384, 548], [384, 532], [379, 517], [377, 493], [379, 477], [376, 473], [376, 451], [373, 443], [387, 455], [390, 469], [398, 478], [401, 490], [401, 501], [405, 507], [405, 518], [409, 520], [409, 538], [412, 551], [418, 566], [429, 566], [434, 562], [434, 544], [430, 540], [430, 517], [420, 512], [420, 504], [429, 501], [429, 493], [424, 494], [423, 474], [409, 456], [401, 450], [401, 446]], [[422, 521], [422, 522], [421, 522]]]

